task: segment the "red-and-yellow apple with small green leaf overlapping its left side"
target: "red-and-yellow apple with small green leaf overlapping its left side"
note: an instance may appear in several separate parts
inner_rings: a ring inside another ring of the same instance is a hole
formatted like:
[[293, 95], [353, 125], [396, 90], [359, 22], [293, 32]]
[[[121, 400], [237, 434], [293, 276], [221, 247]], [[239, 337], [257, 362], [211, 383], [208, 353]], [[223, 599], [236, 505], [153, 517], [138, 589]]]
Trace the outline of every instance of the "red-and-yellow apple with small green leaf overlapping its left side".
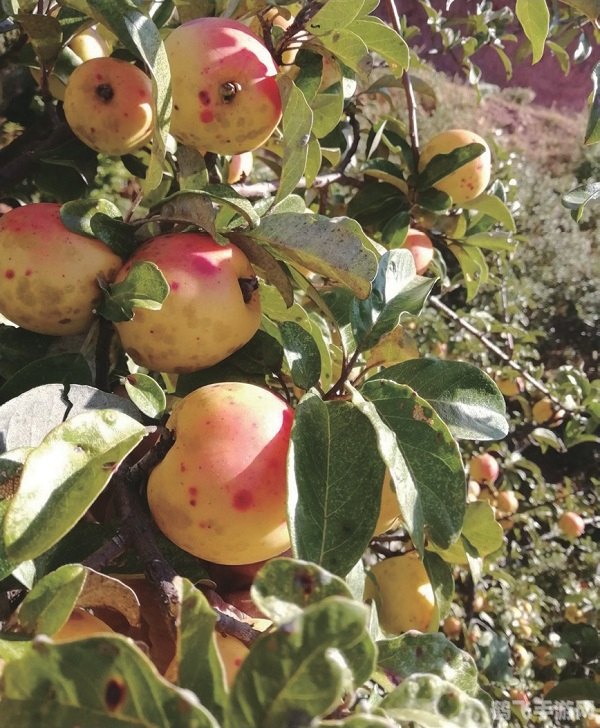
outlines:
[[142, 261], [160, 268], [170, 291], [160, 310], [137, 308], [133, 319], [116, 324], [123, 347], [138, 364], [161, 372], [203, 369], [256, 333], [258, 281], [235, 245], [218, 245], [205, 233], [162, 235], [136, 250], [117, 282]]

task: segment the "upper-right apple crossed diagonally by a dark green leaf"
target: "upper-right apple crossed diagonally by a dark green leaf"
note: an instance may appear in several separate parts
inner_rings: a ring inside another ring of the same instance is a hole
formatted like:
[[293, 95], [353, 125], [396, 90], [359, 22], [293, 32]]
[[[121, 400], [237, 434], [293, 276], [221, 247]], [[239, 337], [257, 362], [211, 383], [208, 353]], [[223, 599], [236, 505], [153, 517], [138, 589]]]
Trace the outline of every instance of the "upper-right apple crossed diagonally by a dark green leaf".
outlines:
[[421, 149], [419, 157], [420, 172], [436, 155], [448, 154], [458, 147], [473, 143], [482, 144], [485, 147], [483, 154], [446, 175], [433, 185], [436, 189], [450, 195], [455, 205], [462, 205], [479, 197], [490, 182], [492, 158], [486, 141], [479, 134], [472, 131], [450, 129], [434, 136]]

